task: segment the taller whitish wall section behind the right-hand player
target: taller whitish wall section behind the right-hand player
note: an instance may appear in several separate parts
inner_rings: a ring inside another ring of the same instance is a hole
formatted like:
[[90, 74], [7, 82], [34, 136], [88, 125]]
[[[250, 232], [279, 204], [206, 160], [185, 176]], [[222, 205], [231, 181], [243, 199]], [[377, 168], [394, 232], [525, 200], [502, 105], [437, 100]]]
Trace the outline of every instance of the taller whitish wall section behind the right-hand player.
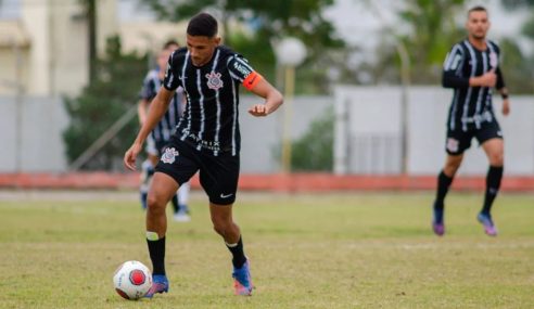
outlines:
[[[445, 160], [447, 110], [452, 91], [412, 87], [407, 102], [407, 162], [411, 175], [436, 173]], [[503, 117], [501, 101], [494, 100], [505, 136], [508, 175], [534, 175], [534, 98], [511, 96], [511, 114]], [[398, 173], [402, 162], [402, 92], [398, 87], [338, 87], [335, 171], [338, 173]], [[459, 170], [483, 175], [487, 159], [473, 140]]]

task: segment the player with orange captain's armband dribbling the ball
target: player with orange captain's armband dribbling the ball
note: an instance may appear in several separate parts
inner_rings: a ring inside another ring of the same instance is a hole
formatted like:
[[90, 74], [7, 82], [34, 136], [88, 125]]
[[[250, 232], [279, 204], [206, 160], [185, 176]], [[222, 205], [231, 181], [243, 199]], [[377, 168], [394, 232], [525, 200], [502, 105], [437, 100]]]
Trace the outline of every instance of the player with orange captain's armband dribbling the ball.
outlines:
[[240, 163], [240, 85], [265, 100], [249, 108], [249, 114], [254, 117], [265, 117], [282, 104], [280, 92], [243, 56], [220, 46], [217, 22], [212, 15], [200, 13], [192, 17], [187, 28], [187, 48], [170, 55], [163, 87], [124, 157], [125, 166], [135, 169], [144, 140], [165, 114], [176, 89], [182, 87], [187, 98], [183, 117], [156, 166], [149, 191], [147, 242], [154, 284], [148, 297], [168, 291], [164, 265], [165, 204], [196, 171], [209, 197], [214, 229], [232, 255], [234, 293], [252, 293], [250, 262], [244, 254], [241, 231], [232, 218]]

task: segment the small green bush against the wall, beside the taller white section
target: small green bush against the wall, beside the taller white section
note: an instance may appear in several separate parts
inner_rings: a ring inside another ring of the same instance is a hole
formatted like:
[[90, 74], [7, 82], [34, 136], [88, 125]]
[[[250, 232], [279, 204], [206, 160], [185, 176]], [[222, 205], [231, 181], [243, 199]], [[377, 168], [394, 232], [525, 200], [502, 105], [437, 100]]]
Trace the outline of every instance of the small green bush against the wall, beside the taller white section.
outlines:
[[315, 119], [307, 132], [292, 142], [293, 171], [332, 171], [333, 168], [333, 111]]

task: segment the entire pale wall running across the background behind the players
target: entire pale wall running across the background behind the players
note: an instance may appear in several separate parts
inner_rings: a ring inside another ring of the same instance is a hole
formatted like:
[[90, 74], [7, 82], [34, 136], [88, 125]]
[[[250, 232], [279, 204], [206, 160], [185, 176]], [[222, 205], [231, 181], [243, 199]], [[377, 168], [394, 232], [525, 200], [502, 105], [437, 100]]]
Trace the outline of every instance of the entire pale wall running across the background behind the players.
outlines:
[[[256, 96], [242, 96], [241, 170], [270, 173], [280, 171], [279, 156], [282, 118], [288, 103], [265, 118], [246, 111], [262, 102]], [[408, 104], [408, 160], [411, 175], [434, 175], [445, 158], [445, 120], [450, 92], [442, 88], [411, 88]], [[334, 104], [336, 102], [336, 104]], [[344, 104], [341, 104], [344, 102]], [[511, 115], [497, 115], [505, 134], [507, 175], [534, 175], [534, 98], [511, 96]], [[344, 105], [346, 113], [340, 114]], [[22, 139], [17, 140], [15, 98], [0, 96], [0, 172], [16, 170], [16, 158], [23, 171], [64, 171], [62, 131], [68, 124], [62, 102], [26, 98], [22, 106]], [[298, 96], [293, 102], [292, 138], [307, 131], [310, 121], [336, 108], [338, 121], [334, 155], [340, 171], [340, 150], [344, 150], [346, 173], [398, 173], [402, 171], [400, 90], [398, 88], [343, 88], [335, 96]], [[495, 102], [496, 111], [500, 100]], [[340, 127], [345, 126], [344, 136]], [[18, 141], [18, 142], [17, 142]], [[16, 145], [21, 146], [17, 151]], [[466, 153], [460, 168], [463, 175], [484, 175], [486, 158], [476, 142]]]

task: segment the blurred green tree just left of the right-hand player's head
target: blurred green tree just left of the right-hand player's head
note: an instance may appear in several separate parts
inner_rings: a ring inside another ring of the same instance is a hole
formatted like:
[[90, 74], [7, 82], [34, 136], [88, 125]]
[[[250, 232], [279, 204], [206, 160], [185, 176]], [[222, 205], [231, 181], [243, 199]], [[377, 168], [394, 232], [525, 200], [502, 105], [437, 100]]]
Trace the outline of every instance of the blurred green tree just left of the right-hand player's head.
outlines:
[[[366, 1], [371, 14], [383, 20], [382, 7]], [[403, 72], [402, 55], [409, 63], [409, 80], [412, 83], [438, 83], [441, 66], [450, 47], [461, 39], [463, 31], [455, 16], [463, 9], [465, 0], [405, 0], [389, 10], [395, 10], [399, 23], [384, 26], [381, 41], [374, 54], [374, 63], [366, 63], [360, 72], [368, 76], [367, 83], [398, 83]]]

